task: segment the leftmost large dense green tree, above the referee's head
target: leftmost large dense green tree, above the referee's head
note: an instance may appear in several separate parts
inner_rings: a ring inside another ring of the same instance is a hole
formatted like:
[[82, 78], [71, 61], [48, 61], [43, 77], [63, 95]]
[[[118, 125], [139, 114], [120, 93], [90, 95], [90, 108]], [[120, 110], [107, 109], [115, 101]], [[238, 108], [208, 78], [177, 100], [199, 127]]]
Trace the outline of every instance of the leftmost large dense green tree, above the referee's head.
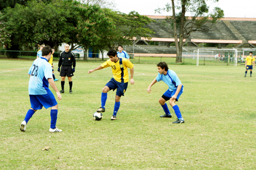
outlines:
[[[1, 18], [6, 31], [13, 37], [10, 46], [18, 43], [45, 44], [51, 47], [69, 42], [76, 37], [76, 11], [72, 1], [54, 0], [45, 4], [43, 1], [30, 1], [27, 6], [16, 4], [14, 9], [7, 7]], [[15, 48], [12, 50], [20, 50]]]

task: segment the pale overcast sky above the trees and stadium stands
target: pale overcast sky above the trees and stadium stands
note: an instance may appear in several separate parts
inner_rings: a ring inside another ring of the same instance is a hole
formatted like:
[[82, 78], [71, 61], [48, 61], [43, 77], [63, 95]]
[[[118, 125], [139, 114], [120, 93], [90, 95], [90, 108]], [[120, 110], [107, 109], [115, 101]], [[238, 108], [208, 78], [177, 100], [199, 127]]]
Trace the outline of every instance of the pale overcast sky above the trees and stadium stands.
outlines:
[[[137, 11], [141, 15], [168, 15], [155, 13], [155, 9], [165, 7], [171, 0], [115, 0], [115, 3], [116, 10], [124, 13]], [[225, 17], [256, 18], [256, 0], [219, 0], [218, 3], [211, 5], [215, 6], [224, 11]]]

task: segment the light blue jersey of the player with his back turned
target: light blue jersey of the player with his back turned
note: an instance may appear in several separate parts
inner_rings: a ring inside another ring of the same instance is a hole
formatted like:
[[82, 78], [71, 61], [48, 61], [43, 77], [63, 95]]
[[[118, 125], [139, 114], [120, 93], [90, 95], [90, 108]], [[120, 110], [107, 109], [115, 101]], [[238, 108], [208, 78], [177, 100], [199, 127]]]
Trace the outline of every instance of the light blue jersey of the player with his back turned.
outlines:
[[[52, 66], [45, 58], [36, 59], [28, 70], [30, 75], [28, 93], [30, 95], [47, 94], [48, 78], [52, 78]], [[50, 90], [49, 90], [50, 91]]]

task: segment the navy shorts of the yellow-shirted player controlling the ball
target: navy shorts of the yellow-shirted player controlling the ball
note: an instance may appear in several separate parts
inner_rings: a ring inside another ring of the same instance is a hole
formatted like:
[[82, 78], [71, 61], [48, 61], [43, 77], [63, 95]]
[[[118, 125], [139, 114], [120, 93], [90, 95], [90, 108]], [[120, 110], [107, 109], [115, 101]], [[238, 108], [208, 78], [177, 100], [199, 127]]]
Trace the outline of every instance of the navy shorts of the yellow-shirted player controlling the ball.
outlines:
[[106, 84], [106, 86], [109, 87], [109, 90], [113, 90], [113, 91], [115, 91], [117, 88], [116, 95], [121, 97], [122, 95], [124, 96], [124, 93], [128, 86], [128, 82], [120, 83], [120, 82], [117, 82], [114, 78], [111, 78], [111, 80], [109, 80], [109, 82]]

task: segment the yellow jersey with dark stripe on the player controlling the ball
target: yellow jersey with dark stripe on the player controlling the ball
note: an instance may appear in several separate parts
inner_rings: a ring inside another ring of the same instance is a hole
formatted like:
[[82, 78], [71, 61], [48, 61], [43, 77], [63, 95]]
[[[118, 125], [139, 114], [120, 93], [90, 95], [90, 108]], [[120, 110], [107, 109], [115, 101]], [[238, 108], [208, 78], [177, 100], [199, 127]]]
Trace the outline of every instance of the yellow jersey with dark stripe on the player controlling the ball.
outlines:
[[112, 62], [110, 59], [108, 59], [106, 62], [103, 62], [101, 64], [101, 67], [103, 68], [111, 67], [114, 75], [113, 78], [117, 82], [127, 83], [129, 82], [129, 74], [127, 71], [127, 67], [132, 69], [133, 64], [131, 63], [131, 61], [125, 58], [118, 58], [117, 62]]

